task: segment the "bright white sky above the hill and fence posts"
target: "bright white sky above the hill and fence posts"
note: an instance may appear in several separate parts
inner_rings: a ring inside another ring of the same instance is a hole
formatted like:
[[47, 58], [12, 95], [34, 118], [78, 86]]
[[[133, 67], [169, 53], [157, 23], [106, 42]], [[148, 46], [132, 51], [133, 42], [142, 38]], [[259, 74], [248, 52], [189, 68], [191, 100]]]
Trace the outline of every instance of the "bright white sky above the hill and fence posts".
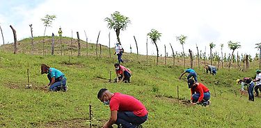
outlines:
[[[15, 1], [15, 0], [14, 0]], [[16, 0], [19, 1], [19, 0]], [[61, 26], [63, 36], [74, 38], [79, 31], [80, 38], [85, 39], [86, 30], [89, 41], [95, 43], [97, 34], [101, 30], [100, 44], [109, 45], [108, 34], [111, 32], [111, 42], [116, 42], [116, 34], [107, 28], [105, 17], [110, 17], [116, 10], [129, 17], [132, 24], [120, 33], [120, 39], [125, 51], [136, 52], [133, 35], [139, 46], [139, 52], [145, 54], [146, 35], [152, 28], [162, 33], [158, 43], [160, 54], [164, 54], [164, 44], [171, 55], [169, 43], [174, 51], [182, 51], [182, 46], [175, 37], [186, 35], [185, 52], [189, 48], [196, 53], [196, 44], [203, 52], [209, 43], [214, 42], [213, 51], [220, 52], [220, 44], [224, 44], [224, 51], [228, 49], [228, 41], [241, 42], [239, 53], [255, 55], [258, 49], [255, 44], [261, 42], [261, 1], [259, 0], [45, 0], [31, 3], [19, 1], [19, 5], [12, 6], [8, 0], [0, 0], [1, 6], [10, 8], [0, 9], [0, 25], [3, 29], [5, 42], [13, 42], [13, 33], [9, 25], [17, 30], [18, 39], [31, 36], [29, 24], [33, 24], [34, 36], [42, 36], [44, 26], [40, 18], [45, 15], [56, 15], [52, 28], [47, 28], [47, 35], [58, 35]], [[32, 1], [33, 2], [33, 1]], [[0, 7], [1, 7], [0, 6]], [[0, 44], [3, 44], [0, 38]], [[149, 40], [149, 53], [156, 54], [154, 44]]]

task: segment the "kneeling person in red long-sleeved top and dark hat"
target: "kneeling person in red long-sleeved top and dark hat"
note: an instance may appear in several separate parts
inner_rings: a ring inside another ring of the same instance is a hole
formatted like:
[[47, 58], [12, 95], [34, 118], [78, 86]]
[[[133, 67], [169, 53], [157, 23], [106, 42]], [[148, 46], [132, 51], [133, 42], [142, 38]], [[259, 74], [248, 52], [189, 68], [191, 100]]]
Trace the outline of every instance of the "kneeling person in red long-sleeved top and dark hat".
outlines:
[[188, 81], [189, 89], [191, 89], [191, 104], [201, 104], [207, 106], [210, 104], [210, 92], [202, 83], [194, 82], [190, 79]]

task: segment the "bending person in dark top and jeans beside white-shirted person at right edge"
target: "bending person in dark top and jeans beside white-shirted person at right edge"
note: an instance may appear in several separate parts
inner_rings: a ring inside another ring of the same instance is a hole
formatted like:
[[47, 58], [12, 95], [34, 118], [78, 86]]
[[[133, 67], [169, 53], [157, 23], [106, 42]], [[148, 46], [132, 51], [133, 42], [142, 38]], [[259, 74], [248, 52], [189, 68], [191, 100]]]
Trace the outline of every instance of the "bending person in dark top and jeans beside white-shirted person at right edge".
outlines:
[[244, 85], [248, 85], [248, 100], [254, 101], [254, 82], [252, 81], [251, 77], [244, 77], [242, 80], [237, 80], [238, 84], [241, 84], [242, 89], [244, 89]]

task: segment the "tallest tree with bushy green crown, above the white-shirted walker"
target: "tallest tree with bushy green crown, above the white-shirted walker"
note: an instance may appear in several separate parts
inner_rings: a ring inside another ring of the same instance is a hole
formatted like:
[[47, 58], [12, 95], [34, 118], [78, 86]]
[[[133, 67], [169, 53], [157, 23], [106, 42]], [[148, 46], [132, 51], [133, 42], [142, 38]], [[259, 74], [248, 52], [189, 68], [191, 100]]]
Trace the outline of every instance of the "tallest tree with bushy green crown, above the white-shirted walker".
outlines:
[[106, 17], [104, 20], [108, 22], [109, 29], [115, 30], [118, 43], [120, 43], [120, 30], [126, 30], [128, 24], [131, 23], [129, 17], [120, 15], [120, 12], [116, 11], [111, 14], [111, 17]]

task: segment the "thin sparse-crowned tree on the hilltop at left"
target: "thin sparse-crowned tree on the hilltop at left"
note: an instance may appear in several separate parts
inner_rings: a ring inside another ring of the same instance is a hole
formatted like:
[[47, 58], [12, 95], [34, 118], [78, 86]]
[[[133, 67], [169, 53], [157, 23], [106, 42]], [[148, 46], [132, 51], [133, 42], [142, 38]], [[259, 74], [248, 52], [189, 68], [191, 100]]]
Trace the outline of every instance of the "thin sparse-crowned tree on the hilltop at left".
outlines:
[[[46, 32], [46, 28], [52, 25], [54, 19], [56, 19], [56, 15], [45, 15], [45, 17], [41, 19], [45, 26], [45, 32]], [[45, 55], [45, 33], [42, 39], [42, 54]]]

